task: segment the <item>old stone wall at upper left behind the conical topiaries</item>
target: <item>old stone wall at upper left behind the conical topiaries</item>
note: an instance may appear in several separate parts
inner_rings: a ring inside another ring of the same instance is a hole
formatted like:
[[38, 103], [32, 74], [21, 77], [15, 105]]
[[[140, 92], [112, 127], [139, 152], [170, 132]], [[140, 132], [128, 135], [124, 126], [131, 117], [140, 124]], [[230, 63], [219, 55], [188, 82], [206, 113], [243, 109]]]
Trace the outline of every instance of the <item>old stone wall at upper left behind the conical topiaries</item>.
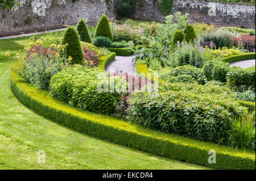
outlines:
[[76, 24], [81, 18], [96, 24], [102, 14], [115, 17], [113, 9], [105, 0], [22, 0], [13, 10], [0, 8], [0, 36], [64, 28], [62, 25]]

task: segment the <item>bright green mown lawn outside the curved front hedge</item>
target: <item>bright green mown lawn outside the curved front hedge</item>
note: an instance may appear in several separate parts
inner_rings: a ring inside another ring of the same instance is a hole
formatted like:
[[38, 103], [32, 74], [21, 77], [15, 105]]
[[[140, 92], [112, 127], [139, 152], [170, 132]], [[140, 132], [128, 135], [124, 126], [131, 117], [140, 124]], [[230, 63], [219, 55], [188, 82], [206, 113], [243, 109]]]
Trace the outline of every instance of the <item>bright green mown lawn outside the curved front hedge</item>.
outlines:
[[[87, 136], [24, 106], [10, 90], [14, 61], [5, 53], [24, 56], [29, 38], [0, 40], [0, 169], [208, 169]], [[46, 165], [35, 163], [38, 150], [46, 151]]]

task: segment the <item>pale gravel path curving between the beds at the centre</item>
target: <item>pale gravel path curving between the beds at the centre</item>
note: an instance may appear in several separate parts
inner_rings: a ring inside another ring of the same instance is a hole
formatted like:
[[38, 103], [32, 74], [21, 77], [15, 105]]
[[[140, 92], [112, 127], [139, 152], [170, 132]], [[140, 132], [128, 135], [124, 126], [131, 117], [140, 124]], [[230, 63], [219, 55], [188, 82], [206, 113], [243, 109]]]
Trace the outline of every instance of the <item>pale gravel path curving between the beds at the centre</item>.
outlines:
[[123, 73], [135, 73], [135, 64], [131, 60], [135, 55], [131, 56], [116, 56], [115, 60], [110, 62], [108, 66], [106, 66], [106, 71], [112, 70], [112, 72], [116, 73], [117, 71], [123, 71]]

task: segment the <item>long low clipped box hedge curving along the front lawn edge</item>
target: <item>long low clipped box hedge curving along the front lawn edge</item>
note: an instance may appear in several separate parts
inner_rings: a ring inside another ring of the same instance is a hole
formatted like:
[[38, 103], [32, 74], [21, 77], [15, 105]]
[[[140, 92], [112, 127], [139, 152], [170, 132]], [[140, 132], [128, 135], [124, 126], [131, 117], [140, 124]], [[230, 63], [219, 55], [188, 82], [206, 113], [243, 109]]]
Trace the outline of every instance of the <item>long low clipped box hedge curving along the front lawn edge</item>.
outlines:
[[[46, 90], [30, 85], [13, 70], [10, 75], [11, 90], [23, 104], [76, 131], [196, 165], [216, 169], [255, 169], [255, 152], [154, 131], [110, 116], [82, 111], [52, 98]], [[215, 164], [208, 163], [209, 150], [216, 151]]]

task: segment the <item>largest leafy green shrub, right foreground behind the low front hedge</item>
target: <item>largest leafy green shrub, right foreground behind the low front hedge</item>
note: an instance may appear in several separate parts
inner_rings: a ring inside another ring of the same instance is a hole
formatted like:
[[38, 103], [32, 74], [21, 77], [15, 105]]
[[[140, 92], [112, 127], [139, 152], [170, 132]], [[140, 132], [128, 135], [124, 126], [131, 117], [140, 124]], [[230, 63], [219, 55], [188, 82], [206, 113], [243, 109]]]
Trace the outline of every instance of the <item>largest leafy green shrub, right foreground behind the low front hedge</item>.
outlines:
[[228, 138], [232, 115], [247, 113], [229, 89], [208, 84], [169, 83], [153, 97], [134, 92], [130, 104], [144, 127], [222, 143]]

